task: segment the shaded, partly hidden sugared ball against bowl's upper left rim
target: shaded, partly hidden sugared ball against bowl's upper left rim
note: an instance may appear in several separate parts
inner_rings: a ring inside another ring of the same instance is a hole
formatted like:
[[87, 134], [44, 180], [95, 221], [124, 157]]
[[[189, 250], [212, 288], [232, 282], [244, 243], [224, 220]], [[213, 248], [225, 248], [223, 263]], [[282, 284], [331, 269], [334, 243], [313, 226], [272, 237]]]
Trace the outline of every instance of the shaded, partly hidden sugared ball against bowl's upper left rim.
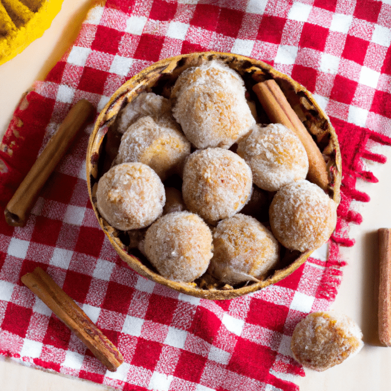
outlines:
[[152, 117], [156, 122], [166, 122], [172, 118], [169, 99], [153, 92], [142, 92], [120, 111], [118, 131], [125, 133], [139, 118]]

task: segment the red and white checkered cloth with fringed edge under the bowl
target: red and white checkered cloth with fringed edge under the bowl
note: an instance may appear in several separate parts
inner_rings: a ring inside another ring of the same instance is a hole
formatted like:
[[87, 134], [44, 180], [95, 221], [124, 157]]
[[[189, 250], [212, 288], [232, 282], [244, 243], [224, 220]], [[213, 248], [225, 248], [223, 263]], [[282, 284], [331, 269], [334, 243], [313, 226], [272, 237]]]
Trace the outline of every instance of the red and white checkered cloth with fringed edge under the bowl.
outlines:
[[[368, 201], [356, 179], [377, 181], [361, 158], [384, 162], [391, 145], [391, 1], [107, 0], [16, 109], [0, 151], [4, 210], [37, 154], [81, 98], [99, 111], [122, 83], [179, 53], [216, 50], [263, 60], [313, 92], [336, 128], [342, 202], [330, 252], [282, 282], [227, 301], [198, 299], [139, 276], [99, 228], [88, 199], [81, 132], [50, 177], [24, 228], [0, 218], [0, 352], [123, 390], [295, 390], [293, 328], [327, 310], [341, 281], [339, 246]], [[323, 247], [324, 249], [324, 247]], [[105, 370], [20, 277], [36, 266], [63, 287], [124, 355]]]

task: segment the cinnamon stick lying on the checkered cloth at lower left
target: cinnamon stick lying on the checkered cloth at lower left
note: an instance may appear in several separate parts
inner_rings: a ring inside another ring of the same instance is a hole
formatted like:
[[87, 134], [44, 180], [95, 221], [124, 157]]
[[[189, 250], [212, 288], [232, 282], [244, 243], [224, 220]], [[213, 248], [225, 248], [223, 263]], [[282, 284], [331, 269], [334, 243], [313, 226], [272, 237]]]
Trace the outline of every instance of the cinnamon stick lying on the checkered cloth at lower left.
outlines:
[[24, 274], [21, 280], [76, 334], [109, 371], [117, 370], [123, 362], [122, 354], [49, 274], [37, 267], [32, 273]]

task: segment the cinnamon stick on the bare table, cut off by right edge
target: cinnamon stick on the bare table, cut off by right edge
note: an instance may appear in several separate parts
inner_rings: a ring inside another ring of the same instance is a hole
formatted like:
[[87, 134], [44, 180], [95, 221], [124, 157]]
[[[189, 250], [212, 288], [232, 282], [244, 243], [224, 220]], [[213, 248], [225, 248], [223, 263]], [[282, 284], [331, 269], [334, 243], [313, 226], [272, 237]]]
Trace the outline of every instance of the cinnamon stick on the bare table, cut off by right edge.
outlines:
[[391, 346], [391, 229], [380, 228], [379, 238], [379, 339]]

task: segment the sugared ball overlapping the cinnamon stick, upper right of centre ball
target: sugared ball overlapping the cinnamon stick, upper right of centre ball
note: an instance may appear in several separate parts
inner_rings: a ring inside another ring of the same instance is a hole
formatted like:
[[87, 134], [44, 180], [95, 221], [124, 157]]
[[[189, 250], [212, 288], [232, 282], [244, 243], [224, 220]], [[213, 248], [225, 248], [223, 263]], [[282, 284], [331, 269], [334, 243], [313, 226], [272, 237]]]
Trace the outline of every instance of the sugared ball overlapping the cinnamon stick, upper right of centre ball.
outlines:
[[238, 143], [237, 153], [250, 166], [254, 183], [264, 190], [276, 191], [308, 173], [300, 139], [282, 124], [254, 125]]

